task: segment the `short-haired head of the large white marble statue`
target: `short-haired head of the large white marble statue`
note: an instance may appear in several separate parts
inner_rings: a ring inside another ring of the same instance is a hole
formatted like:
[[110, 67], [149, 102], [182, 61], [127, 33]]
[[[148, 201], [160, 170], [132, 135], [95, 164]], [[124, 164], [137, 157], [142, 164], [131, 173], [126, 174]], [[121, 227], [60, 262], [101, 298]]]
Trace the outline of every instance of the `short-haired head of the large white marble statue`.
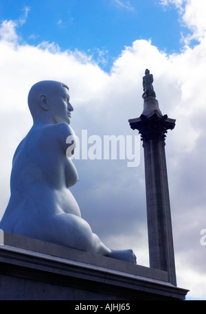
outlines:
[[73, 107], [69, 102], [69, 87], [54, 80], [43, 80], [32, 86], [28, 95], [28, 105], [34, 122], [70, 123]]

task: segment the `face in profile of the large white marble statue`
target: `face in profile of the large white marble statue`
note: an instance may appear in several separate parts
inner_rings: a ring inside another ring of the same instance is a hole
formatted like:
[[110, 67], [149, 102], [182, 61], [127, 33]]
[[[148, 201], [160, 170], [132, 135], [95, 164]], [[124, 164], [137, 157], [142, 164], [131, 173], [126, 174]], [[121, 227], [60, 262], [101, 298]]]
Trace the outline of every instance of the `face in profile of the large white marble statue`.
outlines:
[[66, 122], [70, 124], [73, 107], [69, 102], [69, 93], [66, 87], [60, 87], [55, 95], [49, 96], [48, 103], [54, 123]]

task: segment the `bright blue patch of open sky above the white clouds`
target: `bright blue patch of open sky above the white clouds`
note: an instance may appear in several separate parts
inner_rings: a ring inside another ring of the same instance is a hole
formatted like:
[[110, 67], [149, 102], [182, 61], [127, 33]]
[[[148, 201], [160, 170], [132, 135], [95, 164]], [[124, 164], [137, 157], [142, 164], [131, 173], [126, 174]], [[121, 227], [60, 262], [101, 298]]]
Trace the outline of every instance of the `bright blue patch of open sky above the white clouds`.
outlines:
[[151, 39], [167, 53], [179, 52], [181, 32], [188, 32], [174, 5], [165, 10], [157, 0], [2, 0], [1, 21], [24, 19], [25, 8], [27, 22], [16, 30], [22, 41], [79, 49], [93, 54], [107, 71], [124, 47], [137, 39]]

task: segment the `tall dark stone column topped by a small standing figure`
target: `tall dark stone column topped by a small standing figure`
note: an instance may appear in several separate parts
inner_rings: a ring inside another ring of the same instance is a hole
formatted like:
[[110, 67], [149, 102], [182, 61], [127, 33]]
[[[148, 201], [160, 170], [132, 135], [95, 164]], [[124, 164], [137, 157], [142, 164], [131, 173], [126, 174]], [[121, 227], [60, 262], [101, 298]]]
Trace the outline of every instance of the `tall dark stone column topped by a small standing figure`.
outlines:
[[168, 175], [165, 159], [165, 134], [175, 120], [162, 115], [152, 86], [153, 76], [146, 69], [143, 78], [144, 111], [128, 120], [138, 130], [144, 147], [146, 204], [150, 267], [168, 271], [168, 279], [176, 286], [172, 222]]

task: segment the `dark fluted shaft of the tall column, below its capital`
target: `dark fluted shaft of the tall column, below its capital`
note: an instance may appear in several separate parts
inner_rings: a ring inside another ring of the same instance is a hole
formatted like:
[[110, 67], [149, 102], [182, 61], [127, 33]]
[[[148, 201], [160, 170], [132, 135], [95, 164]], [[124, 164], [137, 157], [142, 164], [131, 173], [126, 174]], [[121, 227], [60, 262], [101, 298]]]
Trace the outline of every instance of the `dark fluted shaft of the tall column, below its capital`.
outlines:
[[150, 267], [168, 271], [176, 285], [165, 142], [144, 141]]

